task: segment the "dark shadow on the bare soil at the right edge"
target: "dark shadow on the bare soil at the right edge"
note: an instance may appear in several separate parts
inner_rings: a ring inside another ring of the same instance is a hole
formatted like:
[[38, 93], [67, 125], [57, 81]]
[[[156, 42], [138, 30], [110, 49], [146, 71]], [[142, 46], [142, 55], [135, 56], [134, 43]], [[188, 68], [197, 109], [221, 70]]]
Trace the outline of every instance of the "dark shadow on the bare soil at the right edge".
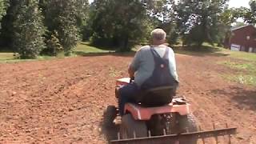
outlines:
[[214, 94], [229, 95], [238, 108], [256, 110], [256, 90], [245, 90], [242, 87], [233, 86], [231, 90], [212, 90]]

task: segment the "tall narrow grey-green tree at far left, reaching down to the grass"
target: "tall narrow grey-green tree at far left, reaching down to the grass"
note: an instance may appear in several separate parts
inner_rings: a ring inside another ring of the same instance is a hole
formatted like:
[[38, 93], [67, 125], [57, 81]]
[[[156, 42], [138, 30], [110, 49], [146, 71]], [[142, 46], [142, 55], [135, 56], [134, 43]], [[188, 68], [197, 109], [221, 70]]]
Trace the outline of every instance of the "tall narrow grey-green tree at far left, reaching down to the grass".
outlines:
[[18, 11], [14, 21], [14, 48], [20, 58], [37, 58], [45, 48], [42, 13], [37, 0], [18, 1]]

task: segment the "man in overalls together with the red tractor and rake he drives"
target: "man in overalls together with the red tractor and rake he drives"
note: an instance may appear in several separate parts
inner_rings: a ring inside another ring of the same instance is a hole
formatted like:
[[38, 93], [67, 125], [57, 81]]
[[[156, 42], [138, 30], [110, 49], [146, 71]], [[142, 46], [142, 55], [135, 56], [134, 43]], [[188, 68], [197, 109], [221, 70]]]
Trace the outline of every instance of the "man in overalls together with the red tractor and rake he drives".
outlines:
[[118, 119], [118, 113], [121, 116], [118, 138], [110, 142], [196, 144], [198, 138], [218, 140], [218, 136], [235, 134], [236, 128], [198, 131], [190, 104], [185, 98], [173, 98], [178, 74], [174, 51], [165, 45], [166, 32], [155, 29], [151, 38], [152, 45], [142, 46], [135, 54], [128, 69], [130, 78], [117, 80], [118, 108], [108, 106], [104, 112], [106, 126]]

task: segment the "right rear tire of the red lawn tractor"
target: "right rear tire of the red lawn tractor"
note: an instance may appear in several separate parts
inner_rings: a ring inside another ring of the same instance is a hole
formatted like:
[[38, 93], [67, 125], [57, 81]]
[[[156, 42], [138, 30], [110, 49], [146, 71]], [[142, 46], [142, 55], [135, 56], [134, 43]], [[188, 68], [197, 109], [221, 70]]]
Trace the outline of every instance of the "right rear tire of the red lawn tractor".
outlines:
[[[194, 117], [194, 114], [179, 115], [178, 114], [178, 131], [179, 133], [196, 132], [198, 126]], [[181, 139], [179, 144], [196, 144], [197, 138]]]

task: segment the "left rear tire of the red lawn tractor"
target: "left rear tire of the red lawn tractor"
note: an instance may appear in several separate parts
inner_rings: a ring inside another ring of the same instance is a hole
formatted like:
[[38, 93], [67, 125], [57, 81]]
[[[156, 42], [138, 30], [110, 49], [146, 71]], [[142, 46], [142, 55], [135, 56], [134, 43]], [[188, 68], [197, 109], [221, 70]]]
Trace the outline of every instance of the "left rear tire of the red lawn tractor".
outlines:
[[122, 116], [122, 123], [120, 126], [121, 138], [134, 138], [134, 133], [136, 138], [147, 137], [146, 122], [134, 120], [131, 114]]

